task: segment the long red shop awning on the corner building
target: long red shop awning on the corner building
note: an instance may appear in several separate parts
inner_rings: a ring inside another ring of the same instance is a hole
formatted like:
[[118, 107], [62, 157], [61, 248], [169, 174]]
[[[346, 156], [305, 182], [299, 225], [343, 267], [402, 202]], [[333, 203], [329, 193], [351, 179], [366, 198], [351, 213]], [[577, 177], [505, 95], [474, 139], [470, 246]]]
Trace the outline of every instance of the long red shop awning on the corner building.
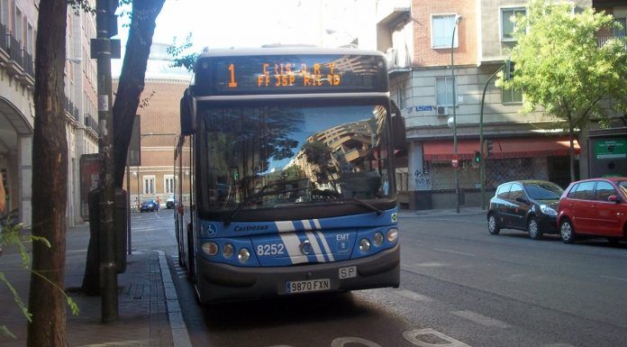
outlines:
[[[492, 149], [487, 157], [489, 159], [568, 155], [568, 138], [533, 137], [489, 140], [492, 141]], [[473, 160], [476, 151], [480, 151], [478, 140], [460, 140], [458, 142], [459, 160]], [[578, 154], [580, 151], [576, 141], [575, 153]], [[451, 159], [453, 159], [452, 141], [423, 142], [423, 160], [443, 161]]]

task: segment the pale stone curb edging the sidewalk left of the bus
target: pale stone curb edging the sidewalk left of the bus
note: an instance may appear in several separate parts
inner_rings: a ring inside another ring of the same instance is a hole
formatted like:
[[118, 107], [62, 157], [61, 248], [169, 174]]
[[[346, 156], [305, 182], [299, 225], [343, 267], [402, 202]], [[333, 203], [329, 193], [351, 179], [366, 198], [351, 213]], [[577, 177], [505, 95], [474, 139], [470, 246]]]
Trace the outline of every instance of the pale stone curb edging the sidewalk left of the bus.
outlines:
[[170, 275], [166, 253], [164, 251], [156, 252], [159, 253], [159, 269], [161, 270], [161, 281], [166, 294], [168, 321], [172, 331], [172, 345], [174, 347], [192, 347], [192, 342], [189, 340], [189, 333], [183, 320], [183, 311], [178, 302], [177, 289], [174, 288], [174, 282]]

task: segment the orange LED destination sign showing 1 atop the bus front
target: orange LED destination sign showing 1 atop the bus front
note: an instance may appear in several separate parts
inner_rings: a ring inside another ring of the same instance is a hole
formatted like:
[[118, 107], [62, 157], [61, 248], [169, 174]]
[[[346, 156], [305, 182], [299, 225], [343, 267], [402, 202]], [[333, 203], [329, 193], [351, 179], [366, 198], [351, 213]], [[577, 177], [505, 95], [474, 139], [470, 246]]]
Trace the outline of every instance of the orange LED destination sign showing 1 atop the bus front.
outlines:
[[196, 65], [197, 95], [257, 95], [387, 90], [386, 64], [375, 55], [233, 56]]

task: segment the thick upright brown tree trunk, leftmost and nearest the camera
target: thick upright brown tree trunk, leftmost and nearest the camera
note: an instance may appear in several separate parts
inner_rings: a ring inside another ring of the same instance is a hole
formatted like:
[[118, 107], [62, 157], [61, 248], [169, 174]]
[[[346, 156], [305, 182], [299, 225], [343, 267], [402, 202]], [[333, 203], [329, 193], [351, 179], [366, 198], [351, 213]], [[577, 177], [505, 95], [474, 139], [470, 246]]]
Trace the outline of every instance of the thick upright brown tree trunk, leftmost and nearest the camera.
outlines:
[[[32, 136], [32, 244], [29, 347], [67, 346], [65, 281], [68, 142], [63, 108], [67, 0], [41, 0], [35, 51], [35, 125]], [[50, 282], [49, 282], [50, 281]], [[56, 288], [54, 286], [57, 286]], [[62, 289], [61, 289], [62, 290]]]

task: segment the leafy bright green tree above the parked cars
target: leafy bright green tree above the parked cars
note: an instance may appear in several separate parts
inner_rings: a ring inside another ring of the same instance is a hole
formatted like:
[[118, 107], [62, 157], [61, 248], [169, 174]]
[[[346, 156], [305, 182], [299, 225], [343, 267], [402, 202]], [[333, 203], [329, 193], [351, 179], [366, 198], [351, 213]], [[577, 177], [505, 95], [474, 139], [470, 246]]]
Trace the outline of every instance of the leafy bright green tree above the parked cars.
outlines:
[[572, 4], [532, 0], [527, 14], [514, 19], [513, 78], [497, 86], [523, 89], [524, 112], [541, 106], [559, 119], [570, 138], [570, 178], [575, 180], [574, 140], [577, 128], [606, 116], [602, 100], [627, 91], [624, 42], [598, 44], [597, 33], [613, 28], [613, 17], [582, 11]]

